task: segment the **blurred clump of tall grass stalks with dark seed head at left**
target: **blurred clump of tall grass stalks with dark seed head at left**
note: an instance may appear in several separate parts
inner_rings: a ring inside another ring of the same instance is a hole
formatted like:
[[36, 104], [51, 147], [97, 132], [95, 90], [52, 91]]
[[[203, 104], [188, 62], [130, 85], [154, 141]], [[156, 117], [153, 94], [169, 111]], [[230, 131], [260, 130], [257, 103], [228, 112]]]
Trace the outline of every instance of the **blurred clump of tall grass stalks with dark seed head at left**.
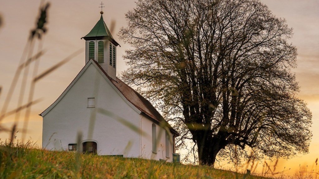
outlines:
[[[40, 12], [39, 16], [36, 19], [36, 26], [35, 28], [31, 29], [30, 31], [30, 36], [27, 40], [26, 46], [24, 48], [24, 51], [22, 53], [22, 56], [19, 61], [18, 68], [15, 71], [14, 77], [11, 81], [11, 85], [8, 90], [8, 94], [5, 97], [4, 104], [1, 107], [1, 112], [0, 112], [0, 132], [11, 132], [11, 138], [10, 141], [11, 143], [13, 142], [13, 135], [14, 133], [17, 132], [18, 130], [18, 123], [20, 121], [23, 121], [23, 127], [22, 127], [22, 141], [26, 137], [27, 133], [27, 128], [28, 128], [28, 123], [29, 123], [29, 118], [31, 115], [31, 107], [34, 104], [37, 104], [40, 99], [34, 100], [34, 90], [36, 87], [36, 83], [40, 80], [46, 77], [47, 75], [51, 74], [53, 71], [55, 71], [57, 68], [61, 67], [63, 64], [66, 62], [70, 61], [72, 58], [74, 58], [76, 55], [80, 54], [83, 50], [78, 50], [75, 53], [71, 54], [69, 57], [63, 59], [56, 65], [44, 70], [40, 75], [38, 75], [38, 68], [40, 64], [40, 60], [42, 55], [45, 53], [45, 50], [42, 49], [43, 46], [43, 39], [44, 35], [47, 32], [47, 14], [48, 14], [48, 8], [50, 4], [45, 3], [44, 1], [41, 1], [40, 4]], [[38, 43], [38, 49], [37, 52], [34, 54], [33, 49], [35, 44]], [[29, 76], [29, 69], [30, 66], [33, 65], [33, 72], [32, 76]], [[17, 84], [19, 82], [19, 78], [22, 76], [21, 84], [20, 84], [20, 90], [19, 90], [19, 95], [18, 95], [18, 101], [16, 102], [16, 108], [8, 111], [9, 106], [12, 102], [11, 98], [14, 94], [14, 91], [16, 91]], [[30, 79], [31, 78], [31, 79]], [[29, 84], [29, 93], [26, 94], [26, 87], [27, 82], [30, 81]], [[0, 95], [3, 95], [1, 93], [2, 87], [0, 87]], [[1, 96], [0, 96], [1, 97]], [[27, 97], [27, 102], [25, 103], [25, 98]], [[24, 117], [21, 118], [21, 113], [24, 113]], [[14, 124], [12, 125], [11, 129], [10, 128], [5, 128], [1, 126], [1, 122], [4, 118], [15, 115], [14, 117]]]

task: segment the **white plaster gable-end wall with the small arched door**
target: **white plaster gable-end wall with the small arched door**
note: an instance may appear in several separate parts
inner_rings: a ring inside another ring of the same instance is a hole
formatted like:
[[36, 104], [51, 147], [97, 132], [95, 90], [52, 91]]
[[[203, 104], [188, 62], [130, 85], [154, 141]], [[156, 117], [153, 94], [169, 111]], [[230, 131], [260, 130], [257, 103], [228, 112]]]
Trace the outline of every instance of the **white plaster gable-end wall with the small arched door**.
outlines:
[[[95, 108], [87, 108], [87, 98], [95, 97]], [[140, 115], [112, 88], [91, 63], [65, 96], [43, 117], [42, 146], [67, 149], [68, 144], [95, 140], [100, 155], [140, 156], [140, 135], [118, 119], [97, 113], [112, 111], [131, 125], [140, 126]], [[78, 144], [82, 150], [82, 145]], [[126, 150], [125, 150], [126, 149]]]

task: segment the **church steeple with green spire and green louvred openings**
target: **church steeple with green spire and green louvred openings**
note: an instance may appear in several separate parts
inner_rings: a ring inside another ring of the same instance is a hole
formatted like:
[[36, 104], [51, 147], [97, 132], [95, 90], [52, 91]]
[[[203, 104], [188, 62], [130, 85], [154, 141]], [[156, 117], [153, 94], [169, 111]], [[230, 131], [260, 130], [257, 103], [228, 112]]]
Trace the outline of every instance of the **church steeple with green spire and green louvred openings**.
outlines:
[[100, 13], [100, 20], [87, 35], [82, 37], [85, 39], [85, 63], [90, 59], [97, 61], [104, 71], [116, 80], [116, 47], [119, 44], [103, 20], [103, 11]]

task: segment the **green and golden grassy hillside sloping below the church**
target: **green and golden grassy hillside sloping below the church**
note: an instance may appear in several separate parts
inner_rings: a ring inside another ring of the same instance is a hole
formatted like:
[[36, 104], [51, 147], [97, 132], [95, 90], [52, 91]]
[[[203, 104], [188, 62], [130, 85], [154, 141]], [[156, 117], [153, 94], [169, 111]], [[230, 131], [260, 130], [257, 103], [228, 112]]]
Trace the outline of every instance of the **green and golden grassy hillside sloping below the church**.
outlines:
[[0, 146], [0, 178], [263, 178], [206, 166], [182, 165], [47, 151], [24, 146]]

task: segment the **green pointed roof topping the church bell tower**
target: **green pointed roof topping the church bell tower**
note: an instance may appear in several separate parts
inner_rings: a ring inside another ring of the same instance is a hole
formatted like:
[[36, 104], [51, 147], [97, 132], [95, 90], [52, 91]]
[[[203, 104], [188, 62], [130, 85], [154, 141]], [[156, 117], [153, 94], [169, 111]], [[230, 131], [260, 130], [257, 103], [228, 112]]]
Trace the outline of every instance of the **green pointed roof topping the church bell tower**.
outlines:
[[[109, 39], [112, 41], [116, 46], [119, 44], [114, 40], [112, 37], [112, 34], [110, 30], [108, 30], [108, 26], [106, 26], [102, 14], [100, 20], [94, 25], [93, 29], [84, 37], [82, 37], [85, 40], [90, 39]], [[82, 39], [81, 38], [81, 39]]]

